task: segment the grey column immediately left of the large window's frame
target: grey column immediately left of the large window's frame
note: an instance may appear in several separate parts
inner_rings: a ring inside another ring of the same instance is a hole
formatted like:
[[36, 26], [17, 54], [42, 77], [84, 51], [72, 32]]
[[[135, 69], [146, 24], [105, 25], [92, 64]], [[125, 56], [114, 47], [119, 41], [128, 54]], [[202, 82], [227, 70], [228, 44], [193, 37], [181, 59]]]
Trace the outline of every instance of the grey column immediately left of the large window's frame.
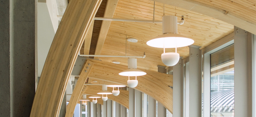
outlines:
[[186, 78], [189, 79], [189, 95], [186, 95], [189, 97], [189, 117], [201, 117], [202, 115], [202, 57], [199, 48], [195, 45], [189, 46], [189, 65], [186, 66], [189, 70], [189, 73], [186, 72], [188, 75]]

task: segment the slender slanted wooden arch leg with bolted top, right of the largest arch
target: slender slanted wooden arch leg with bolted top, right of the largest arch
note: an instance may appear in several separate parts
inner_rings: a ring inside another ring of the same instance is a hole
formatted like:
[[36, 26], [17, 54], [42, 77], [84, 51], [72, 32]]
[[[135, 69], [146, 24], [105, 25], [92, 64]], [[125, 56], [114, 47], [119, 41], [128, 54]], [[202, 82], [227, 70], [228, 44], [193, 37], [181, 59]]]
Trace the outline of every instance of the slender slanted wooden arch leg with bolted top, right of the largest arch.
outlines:
[[65, 117], [72, 117], [74, 114], [74, 110], [76, 107], [77, 102], [81, 98], [81, 93], [83, 91], [84, 83], [86, 79], [88, 78], [88, 75], [92, 69], [93, 62], [87, 60], [83, 66], [83, 69], [81, 70], [80, 77], [78, 78], [78, 81], [75, 85], [75, 89], [71, 95], [70, 101], [67, 106], [67, 112]]

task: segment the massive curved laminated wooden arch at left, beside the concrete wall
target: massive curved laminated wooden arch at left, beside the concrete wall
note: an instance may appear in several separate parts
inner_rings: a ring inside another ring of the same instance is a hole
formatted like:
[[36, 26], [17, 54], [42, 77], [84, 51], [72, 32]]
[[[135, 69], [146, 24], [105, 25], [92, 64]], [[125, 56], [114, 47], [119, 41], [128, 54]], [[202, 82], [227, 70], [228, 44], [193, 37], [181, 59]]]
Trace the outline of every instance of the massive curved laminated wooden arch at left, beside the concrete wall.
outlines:
[[71, 0], [47, 55], [30, 117], [58, 117], [68, 78], [101, 0]]

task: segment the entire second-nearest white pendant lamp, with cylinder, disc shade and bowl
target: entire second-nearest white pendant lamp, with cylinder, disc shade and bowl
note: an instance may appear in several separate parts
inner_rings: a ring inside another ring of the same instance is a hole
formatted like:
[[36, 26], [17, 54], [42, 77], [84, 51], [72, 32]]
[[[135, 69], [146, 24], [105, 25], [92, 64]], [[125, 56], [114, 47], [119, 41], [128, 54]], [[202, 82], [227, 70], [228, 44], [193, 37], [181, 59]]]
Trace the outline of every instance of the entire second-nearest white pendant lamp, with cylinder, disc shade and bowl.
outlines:
[[[146, 75], [142, 70], [137, 69], [137, 59], [136, 58], [128, 58], [128, 69], [119, 73], [121, 76], [128, 76], [127, 84], [129, 87], [134, 88], [138, 85], [137, 76]], [[135, 76], [135, 80], [130, 80], [130, 76]]]

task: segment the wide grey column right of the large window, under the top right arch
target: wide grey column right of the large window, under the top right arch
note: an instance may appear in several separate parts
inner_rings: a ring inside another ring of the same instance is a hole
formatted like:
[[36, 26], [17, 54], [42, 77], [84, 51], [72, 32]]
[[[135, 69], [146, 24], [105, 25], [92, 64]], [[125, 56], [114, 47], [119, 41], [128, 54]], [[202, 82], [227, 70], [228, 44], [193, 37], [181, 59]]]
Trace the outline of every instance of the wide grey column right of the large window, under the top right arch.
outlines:
[[251, 33], [241, 28], [235, 27], [234, 32], [234, 114], [235, 117], [252, 117], [252, 74], [255, 74], [251, 65], [253, 39]]

